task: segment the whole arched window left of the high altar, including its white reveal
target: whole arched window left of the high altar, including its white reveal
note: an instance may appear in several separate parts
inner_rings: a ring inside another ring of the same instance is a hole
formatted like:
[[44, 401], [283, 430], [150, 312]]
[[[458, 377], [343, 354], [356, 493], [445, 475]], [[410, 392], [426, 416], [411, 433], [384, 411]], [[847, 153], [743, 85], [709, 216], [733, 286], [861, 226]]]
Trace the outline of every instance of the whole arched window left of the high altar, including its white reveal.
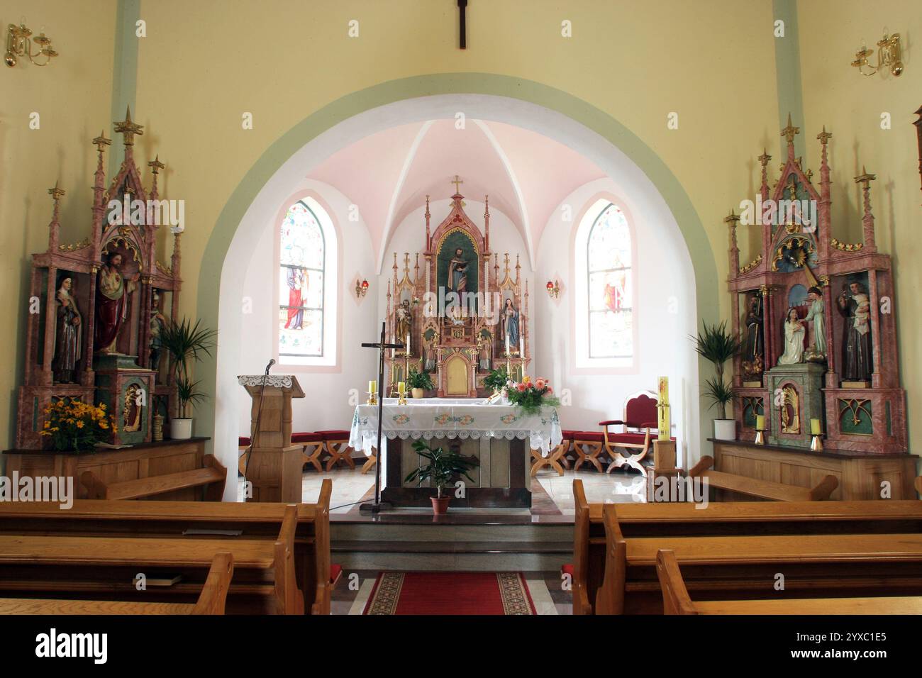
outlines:
[[278, 239], [278, 363], [335, 362], [332, 222], [311, 197], [291, 205]]

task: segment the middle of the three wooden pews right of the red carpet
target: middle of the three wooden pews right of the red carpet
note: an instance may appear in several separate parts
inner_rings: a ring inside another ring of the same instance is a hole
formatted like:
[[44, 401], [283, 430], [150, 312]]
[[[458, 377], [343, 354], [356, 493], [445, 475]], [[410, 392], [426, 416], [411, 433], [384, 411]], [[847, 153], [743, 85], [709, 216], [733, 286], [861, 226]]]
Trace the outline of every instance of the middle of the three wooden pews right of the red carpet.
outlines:
[[[922, 534], [811, 534], [625, 538], [615, 505], [603, 507], [605, 577], [597, 614], [658, 613], [656, 557], [675, 552], [686, 585], [704, 600], [922, 595]], [[774, 591], [777, 573], [785, 589]], [[651, 584], [655, 586], [651, 586]], [[656, 591], [651, 599], [651, 592]]]

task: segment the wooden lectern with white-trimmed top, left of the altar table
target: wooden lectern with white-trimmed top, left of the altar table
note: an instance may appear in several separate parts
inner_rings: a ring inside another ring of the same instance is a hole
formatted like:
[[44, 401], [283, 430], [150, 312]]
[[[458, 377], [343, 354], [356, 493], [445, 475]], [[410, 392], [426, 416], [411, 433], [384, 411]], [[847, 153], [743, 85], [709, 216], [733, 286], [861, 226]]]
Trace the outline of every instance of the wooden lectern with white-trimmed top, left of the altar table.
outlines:
[[291, 445], [291, 398], [304, 397], [301, 385], [293, 375], [243, 375], [237, 381], [253, 398], [246, 472], [251, 501], [301, 503], [302, 446]]

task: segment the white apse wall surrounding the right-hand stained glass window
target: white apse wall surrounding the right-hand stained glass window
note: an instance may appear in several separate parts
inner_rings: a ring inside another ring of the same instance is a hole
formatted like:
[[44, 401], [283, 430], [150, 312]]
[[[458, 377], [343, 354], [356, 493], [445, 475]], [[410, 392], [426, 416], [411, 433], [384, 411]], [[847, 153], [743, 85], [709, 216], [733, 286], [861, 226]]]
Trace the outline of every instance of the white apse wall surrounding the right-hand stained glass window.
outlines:
[[[621, 203], [631, 222], [636, 244], [632, 273], [637, 334], [632, 368], [585, 374], [585, 370], [575, 368], [574, 361], [573, 322], [585, 317], [573, 308], [575, 286], [585, 280], [585, 270], [574, 270], [573, 241], [585, 208], [599, 196]], [[568, 213], [570, 220], [565, 221]], [[695, 327], [694, 277], [688, 259], [684, 241], [668, 237], [664, 224], [649, 214], [644, 196], [623, 193], [611, 179], [585, 184], [561, 201], [538, 243], [536, 279], [540, 294], [532, 299], [538, 327], [537, 374], [549, 377], [558, 392], [569, 389], [572, 397], [572, 404], [564, 403], [560, 408], [563, 428], [597, 431], [598, 422], [621, 419], [626, 398], [639, 390], [656, 391], [657, 377], [668, 376], [679, 463], [686, 458], [689, 442], [697, 440], [697, 425], [692, 426], [692, 422], [698, 420], [697, 411], [689, 407], [697, 405], [698, 387], [695, 354], [687, 339]], [[558, 300], [552, 300], [545, 291], [548, 280], [560, 280]], [[691, 451], [696, 447], [692, 444]]]

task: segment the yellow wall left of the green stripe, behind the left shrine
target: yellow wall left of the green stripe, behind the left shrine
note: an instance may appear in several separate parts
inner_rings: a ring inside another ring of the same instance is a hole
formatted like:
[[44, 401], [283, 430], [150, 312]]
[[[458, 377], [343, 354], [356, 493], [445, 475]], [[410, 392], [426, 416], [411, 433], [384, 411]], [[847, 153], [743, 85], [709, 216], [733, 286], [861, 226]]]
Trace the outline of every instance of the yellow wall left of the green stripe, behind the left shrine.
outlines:
[[[29, 308], [29, 262], [48, 246], [52, 200], [48, 188], [59, 181], [67, 195], [61, 205], [61, 242], [89, 235], [96, 149], [90, 139], [101, 129], [112, 137], [115, 0], [88, 4], [61, 0], [0, 2], [0, 25], [44, 26], [60, 53], [53, 65], [28, 59], [14, 68], [0, 65], [0, 445], [13, 446], [16, 398], [22, 384]], [[34, 51], [34, 50], [33, 50]], [[41, 127], [30, 129], [30, 114]]]

